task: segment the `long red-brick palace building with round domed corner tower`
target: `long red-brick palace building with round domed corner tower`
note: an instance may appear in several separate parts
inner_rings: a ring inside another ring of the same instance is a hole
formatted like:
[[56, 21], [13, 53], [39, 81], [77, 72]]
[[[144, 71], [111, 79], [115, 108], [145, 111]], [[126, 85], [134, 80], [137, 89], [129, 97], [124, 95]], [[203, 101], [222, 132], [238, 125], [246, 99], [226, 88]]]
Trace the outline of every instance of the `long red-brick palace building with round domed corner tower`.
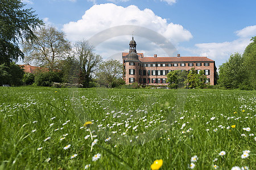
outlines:
[[207, 82], [216, 84], [217, 74], [215, 62], [207, 57], [144, 57], [137, 53], [134, 37], [130, 41], [129, 53], [122, 53], [123, 80], [126, 84], [137, 82], [143, 85], [167, 85], [167, 74], [174, 70], [189, 71], [195, 68], [197, 74], [204, 70]]

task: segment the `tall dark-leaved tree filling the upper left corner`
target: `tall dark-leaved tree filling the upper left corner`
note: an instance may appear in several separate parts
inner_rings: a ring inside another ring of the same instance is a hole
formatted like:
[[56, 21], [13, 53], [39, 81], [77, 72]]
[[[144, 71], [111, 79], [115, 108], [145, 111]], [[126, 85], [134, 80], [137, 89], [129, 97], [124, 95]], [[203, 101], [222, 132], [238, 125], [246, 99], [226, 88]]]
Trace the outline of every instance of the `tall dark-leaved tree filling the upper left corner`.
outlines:
[[10, 65], [24, 54], [19, 49], [19, 40], [35, 39], [33, 30], [43, 24], [32, 8], [24, 9], [20, 0], [0, 1], [0, 64]]

